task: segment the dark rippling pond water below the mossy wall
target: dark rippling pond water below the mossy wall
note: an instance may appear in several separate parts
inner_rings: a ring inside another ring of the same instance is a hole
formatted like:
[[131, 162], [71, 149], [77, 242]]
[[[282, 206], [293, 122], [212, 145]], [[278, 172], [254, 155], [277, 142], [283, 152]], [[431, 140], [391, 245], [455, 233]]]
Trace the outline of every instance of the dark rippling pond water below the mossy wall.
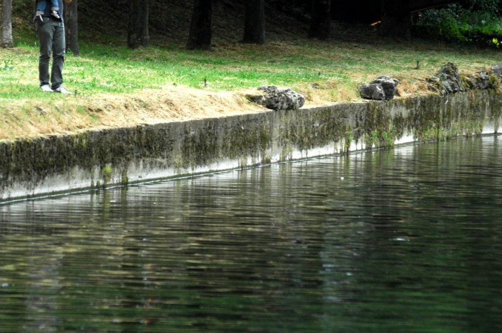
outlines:
[[502, 329], [502, 144], [0, 205], [0, 331]]

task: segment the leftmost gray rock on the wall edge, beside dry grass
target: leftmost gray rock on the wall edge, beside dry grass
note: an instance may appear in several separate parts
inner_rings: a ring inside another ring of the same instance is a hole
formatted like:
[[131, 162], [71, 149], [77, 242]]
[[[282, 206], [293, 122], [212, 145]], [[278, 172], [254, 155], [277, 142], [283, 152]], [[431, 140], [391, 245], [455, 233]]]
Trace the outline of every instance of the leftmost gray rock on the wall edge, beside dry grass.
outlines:
[[276, 86], [261, 86], [258, 90], [264, 94], [247, 95], [247, 97], [268, 109], [295, 110], [305, 104], [305, 97], [291, 88], [279, 89]]

